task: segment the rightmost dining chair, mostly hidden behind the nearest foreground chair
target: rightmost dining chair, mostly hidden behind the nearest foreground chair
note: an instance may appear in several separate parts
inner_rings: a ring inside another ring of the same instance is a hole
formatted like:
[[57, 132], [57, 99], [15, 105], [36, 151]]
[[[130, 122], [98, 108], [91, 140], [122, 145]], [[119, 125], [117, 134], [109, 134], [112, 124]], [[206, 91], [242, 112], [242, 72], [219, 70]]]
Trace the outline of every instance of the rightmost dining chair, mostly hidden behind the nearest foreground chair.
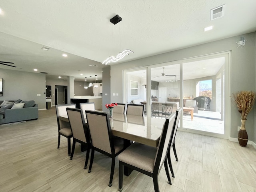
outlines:
[[173, 169], [172, 169], [170, 150], [171, 150], [171, 147], [172, 147], [173, 152], [174, 152], [174, 156], [176, 158], [176, 161], [178, 161], [178, 157], [177, 157], [177, 153], [176, 153], [176, 148], [175, 148], [175, 137], [176, 137], [176, 133], [177, 133], [177, 130], [178, 130], [178, 124], [179, 124], [179, 121], [180, 121], [180, 114], [181, 114], [181, 112], [182, 112], [182, 108], [179, 108], [178, 110], [176, 110], [176, 113], [175, 113], [176, 115], [175, 115], [175, 120], [174, 120], [174, 125], [173, 125], [172, 137], [171, 137], [170, 144], [169, 144], [168, 150], [167, 150], [167, 160], [168, 160], [169, 168], [171, 170], [173, 178], [175, 176], [174, 176], [174, 172], [173, 172]]

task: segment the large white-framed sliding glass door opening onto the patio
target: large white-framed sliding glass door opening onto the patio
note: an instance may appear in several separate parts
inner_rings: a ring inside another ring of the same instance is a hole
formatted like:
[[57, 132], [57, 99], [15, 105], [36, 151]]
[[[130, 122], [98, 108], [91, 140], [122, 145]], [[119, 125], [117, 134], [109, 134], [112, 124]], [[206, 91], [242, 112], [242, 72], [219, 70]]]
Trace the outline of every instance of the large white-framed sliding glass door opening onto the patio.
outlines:
[[124, 70], [124, 100], [145, 104], [153, 118], [182, 107], [179, 130], [227, 138], [229, 73], [230, 52]]

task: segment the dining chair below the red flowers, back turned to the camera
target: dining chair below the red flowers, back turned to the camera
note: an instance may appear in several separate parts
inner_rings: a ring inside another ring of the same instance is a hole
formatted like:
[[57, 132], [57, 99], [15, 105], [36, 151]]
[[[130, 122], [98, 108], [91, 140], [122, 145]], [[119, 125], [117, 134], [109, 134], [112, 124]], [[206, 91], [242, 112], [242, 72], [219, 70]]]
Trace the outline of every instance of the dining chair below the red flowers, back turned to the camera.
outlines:
[[110, 120], [107, 112], [86, 110], [86, 119], [92, 142], [92, 153], [88, 173], [92, 171], [94, 150], [112, 158], [110, 180], [108, 186], [112, 186], [114, 176], [115, 160], [124, 150], [124, 140], [112, 136]]

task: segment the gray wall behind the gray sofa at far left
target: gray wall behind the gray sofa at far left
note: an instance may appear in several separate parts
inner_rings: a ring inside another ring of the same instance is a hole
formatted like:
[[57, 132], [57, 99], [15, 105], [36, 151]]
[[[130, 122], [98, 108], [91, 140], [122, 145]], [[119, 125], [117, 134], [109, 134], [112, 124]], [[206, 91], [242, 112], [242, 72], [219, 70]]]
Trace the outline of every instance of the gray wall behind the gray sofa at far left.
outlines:
[[46, 108], [45, 74], [0, 69], [0, 78], [3, 78], [0, 100], [34, 100], [39, 109]]

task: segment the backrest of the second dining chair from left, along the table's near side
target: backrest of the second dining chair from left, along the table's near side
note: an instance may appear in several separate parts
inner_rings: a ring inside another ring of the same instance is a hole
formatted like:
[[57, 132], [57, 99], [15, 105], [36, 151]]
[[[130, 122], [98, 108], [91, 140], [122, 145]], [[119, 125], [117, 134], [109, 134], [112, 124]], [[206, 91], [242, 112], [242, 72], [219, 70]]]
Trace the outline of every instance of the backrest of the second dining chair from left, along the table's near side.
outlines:
[[[70, 128], [73, 134], [73, 138], [80, 141], [86, 142], [85, 137], [85, 122], [84, 115], [81, 109], [69, 109], [67, 108], [68, 120], [70, 123]], [[86, 142], [87, 143], [87, 142]]]

